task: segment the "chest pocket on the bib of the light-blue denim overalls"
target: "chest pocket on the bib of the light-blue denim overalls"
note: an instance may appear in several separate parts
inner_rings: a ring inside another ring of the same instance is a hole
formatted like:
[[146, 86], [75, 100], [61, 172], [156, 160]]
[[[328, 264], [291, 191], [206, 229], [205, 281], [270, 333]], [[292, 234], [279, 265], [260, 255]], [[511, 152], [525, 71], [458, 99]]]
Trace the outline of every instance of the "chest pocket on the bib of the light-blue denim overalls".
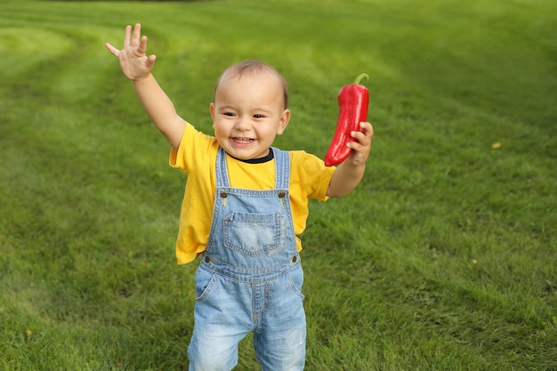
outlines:
[[277, 254], [285, 247], [285, 218], [280, 213], [233, 213], [224, 218], [224, 246], [248, 256]]

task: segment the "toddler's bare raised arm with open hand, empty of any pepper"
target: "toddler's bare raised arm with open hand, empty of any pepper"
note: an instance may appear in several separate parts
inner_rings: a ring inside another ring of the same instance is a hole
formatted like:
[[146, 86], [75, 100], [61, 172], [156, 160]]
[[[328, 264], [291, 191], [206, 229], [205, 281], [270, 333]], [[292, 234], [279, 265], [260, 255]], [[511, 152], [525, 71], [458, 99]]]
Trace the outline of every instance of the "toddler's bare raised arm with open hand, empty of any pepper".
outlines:
[[178, 149], [186, 123], [178, 116], [173, 102], [151, 74], [157, 57], [147, 55], [147, 36], [141, 37], [141, 25], [135, 25], [133, 35], [132, 26], [126, 26], [122, 50], [108, 43], [106, 47], [117, 57], [125, 77], [132, 80], [141, 106], [153, 124], [165, 135], [170, 145]]

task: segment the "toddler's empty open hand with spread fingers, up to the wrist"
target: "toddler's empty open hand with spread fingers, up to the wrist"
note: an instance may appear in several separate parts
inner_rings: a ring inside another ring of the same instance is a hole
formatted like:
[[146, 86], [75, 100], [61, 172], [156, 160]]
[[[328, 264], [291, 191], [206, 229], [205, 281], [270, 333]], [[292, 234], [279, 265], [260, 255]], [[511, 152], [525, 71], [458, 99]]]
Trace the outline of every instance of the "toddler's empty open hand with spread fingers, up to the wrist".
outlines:
[[137, 23], [135, 25], [133, 35], [132, 26], [125, 27], [122, 50], [118, 50], [109, 43], [105, 46], [109, 52], [117, 57], [125, 77], [133, 81], [149, 77], [157, 57], [153, 54], [147, 55], [147, 36], [141, 36], [141, 24]]

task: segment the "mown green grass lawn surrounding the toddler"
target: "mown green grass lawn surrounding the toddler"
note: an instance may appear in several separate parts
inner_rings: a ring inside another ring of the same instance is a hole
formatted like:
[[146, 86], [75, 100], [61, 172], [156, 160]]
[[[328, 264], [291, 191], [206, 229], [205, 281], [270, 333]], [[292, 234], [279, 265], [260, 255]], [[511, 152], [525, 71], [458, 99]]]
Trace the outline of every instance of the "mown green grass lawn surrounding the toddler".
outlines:
[[557, 370], [553, 0], [4, 0], [1, 370], [188, 367], [186, 179], [104, 49], [134, 22], [206, 133], [222, 69], [265, 60], [290, 85], [276, 145], [322, 157], [371, 77], [367, 174], [303, 234], [306, 369]]

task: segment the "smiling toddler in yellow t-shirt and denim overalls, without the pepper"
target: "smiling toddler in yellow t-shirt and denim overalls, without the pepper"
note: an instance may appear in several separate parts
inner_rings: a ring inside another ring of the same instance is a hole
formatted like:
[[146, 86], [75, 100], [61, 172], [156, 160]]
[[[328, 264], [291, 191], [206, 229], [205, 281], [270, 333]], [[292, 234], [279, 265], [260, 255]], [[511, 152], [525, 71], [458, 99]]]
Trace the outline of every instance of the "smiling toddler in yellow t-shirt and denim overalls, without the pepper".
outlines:
[[209, 110], [214, 136], [178, 116], [151, 74], [141, 25], [125, 28], [120, 62], [141, 105], [172, 146], [170, 165], [188, 174], [176, 244], [179, 263], [202, 255], [195, 284], [190, 370], [231, 370], [238, 343], [254, 334], [263, 370], [302, 370], [305, 314], [300, 239], [308, 198], [343, 197], [361, 180], [373, 128], [351, 133], [351, 156], [327, 167], [303, 151], [271, 147], [290, 119], [287, 83], [275, 69], [243, 61], [219, 78]]

